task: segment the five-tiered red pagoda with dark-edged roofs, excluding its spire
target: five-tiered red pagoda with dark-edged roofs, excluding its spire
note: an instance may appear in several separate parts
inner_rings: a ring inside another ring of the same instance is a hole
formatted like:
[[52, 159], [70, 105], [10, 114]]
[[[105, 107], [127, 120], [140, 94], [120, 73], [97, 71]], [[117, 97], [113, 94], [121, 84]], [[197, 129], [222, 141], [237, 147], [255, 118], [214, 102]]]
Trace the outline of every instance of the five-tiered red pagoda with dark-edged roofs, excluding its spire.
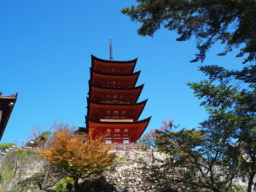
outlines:
[[138, 120], [147, 100], [137, 102], [143, 85], [136, 86], [136, 63], [91, 55], [86, 128], [93, 137], [104, 135], [106, 143], [136, 143], [147, 128], [150, 117]]

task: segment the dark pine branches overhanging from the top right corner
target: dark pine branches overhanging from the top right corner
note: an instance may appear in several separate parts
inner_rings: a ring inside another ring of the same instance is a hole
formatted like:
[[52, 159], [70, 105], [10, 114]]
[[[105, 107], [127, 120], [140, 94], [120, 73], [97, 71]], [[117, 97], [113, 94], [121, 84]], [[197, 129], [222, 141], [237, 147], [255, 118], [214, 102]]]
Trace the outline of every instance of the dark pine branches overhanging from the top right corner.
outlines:
[[204, 61], [216, 42], [226, 46], [218, 55], [240, 47], [236, 56], [247, 54], [247, 62], [256, 59], [255, 9], [255, 0], [137, 0], [122, 13], [142, 23], [137, 32], [143, 36], [153, 36], [163, 26], [179, 34], [177, 41], [195, 37], [199, 53], [193, 62]]

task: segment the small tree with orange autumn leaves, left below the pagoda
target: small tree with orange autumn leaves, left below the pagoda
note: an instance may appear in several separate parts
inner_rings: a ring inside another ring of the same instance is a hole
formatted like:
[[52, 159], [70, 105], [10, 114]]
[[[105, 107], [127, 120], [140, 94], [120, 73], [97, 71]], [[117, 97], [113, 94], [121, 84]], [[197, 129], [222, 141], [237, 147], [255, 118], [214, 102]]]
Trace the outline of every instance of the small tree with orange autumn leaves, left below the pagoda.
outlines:
[[112, 163], [114, 154], [109, 153], [103, 137], [90, 135], [73, 136], [70, 129], [55, 130], [45, 149], [39, 150], [51, 166], [60, 168], [72, 177], [74, 187], [79, 189], [79, 178], [99, 176]]

